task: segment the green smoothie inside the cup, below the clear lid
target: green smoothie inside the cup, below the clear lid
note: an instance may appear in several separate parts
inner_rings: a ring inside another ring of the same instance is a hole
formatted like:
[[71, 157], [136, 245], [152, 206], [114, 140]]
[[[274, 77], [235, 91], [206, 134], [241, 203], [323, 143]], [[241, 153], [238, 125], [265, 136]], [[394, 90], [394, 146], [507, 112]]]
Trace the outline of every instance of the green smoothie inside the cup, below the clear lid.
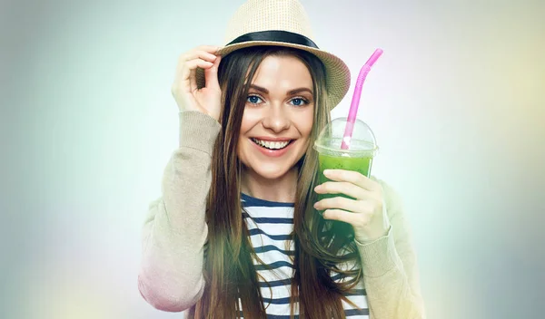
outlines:
[[[327, 179], [323, 175], [324, 169], [354, 170], [354, 171], [360, 172], [362, 175], [368, 178], [370, 177], [372, 157], [354, 158], [354, 157], [337, 157], [337, 156], [326, 155], [326, 154], [318, 154], [318, 160], [320, 161], [320, 173], [319, 173], [319, 180], [318, 180], [319, 184], [322, 184], [326, 181], [331, 180], [331, 179]], [[343, 194], [320, 194], [318, 196], [318, 199], [320, 200], [322, 198], [334, 198], [334, 197], [351, 198]]]

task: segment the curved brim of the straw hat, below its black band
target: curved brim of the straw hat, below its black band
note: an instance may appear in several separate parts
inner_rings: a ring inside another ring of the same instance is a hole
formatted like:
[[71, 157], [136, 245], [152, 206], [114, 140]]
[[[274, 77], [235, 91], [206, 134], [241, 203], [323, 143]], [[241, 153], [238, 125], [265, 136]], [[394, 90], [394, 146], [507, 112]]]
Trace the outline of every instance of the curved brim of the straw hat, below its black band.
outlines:
[[[326, 90], [328, 92], [329, 100], [329, 111], [339, 104], [342, 101], [348, 90], [350, 89], [351, 74], [348, 66], [342, 62], [342, 60], [332, 53], [327, 53], [320, 49], [314, 49], [305, 45], [294, 44], [294, 43], [279, 43], [273, 41], [249, 41], [244, 43], [234, 43], [226, 45], [221, 48], [217, 55], [225, 56], [233, 51], [243, 49], [245, 47], [251, 46], [284, 46], [295, 49], [300, 49], [308, 53], [314, 54], [319, 58], [324, 67], [326, 73]], [[201, 68], [197, 69], [196, 72], [196, 81], [197, 87], [202, 88], [204, 86], [204, 71]]]

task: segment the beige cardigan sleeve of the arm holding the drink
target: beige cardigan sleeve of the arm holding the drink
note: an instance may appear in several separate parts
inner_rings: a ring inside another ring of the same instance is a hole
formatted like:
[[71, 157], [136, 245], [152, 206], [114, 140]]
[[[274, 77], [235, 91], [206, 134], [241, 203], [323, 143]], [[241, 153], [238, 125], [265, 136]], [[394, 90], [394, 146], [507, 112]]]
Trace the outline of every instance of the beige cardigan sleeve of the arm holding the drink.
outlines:
[[386, 236], [358, 245], [371, 318], [425, 318], [417, 256], [401, 198], [384, 181], [375, 180], [382, 186], [391, 227]]

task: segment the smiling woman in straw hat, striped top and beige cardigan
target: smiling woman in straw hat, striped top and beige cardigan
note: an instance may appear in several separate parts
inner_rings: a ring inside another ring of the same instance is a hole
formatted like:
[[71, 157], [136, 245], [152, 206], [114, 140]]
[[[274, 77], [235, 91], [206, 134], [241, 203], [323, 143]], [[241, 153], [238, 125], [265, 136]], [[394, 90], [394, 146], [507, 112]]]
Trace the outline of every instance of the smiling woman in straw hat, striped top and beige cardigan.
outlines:
[[144, 226], [144, 299], [189, 318], [423, 318], [395, 193], [347, 170], [315, 183], [312, 141], [348, 68], [297, 1], [251, 0], [229, 25], [225, 47], [179, 61], [180, 147]]

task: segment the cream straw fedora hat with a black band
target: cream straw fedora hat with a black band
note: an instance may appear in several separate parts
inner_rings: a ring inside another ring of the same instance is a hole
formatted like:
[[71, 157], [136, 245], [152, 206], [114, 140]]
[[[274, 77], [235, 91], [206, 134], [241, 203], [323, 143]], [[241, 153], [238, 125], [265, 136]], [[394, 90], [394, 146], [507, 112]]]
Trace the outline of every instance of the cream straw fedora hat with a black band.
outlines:
[[[311, 24], [302, 4], [297, 0], [248, 0], [233, 14], [227, 24], [224, 43], [217, 54], [256, 45], [277, 45], [314, 54], [325, 66], [330, 111], [350, 88], [350, 70], [342, 60], [321, 50], [312, 41]], [[197, 69], [197, 86], [204, 86], [203, 69]]]

